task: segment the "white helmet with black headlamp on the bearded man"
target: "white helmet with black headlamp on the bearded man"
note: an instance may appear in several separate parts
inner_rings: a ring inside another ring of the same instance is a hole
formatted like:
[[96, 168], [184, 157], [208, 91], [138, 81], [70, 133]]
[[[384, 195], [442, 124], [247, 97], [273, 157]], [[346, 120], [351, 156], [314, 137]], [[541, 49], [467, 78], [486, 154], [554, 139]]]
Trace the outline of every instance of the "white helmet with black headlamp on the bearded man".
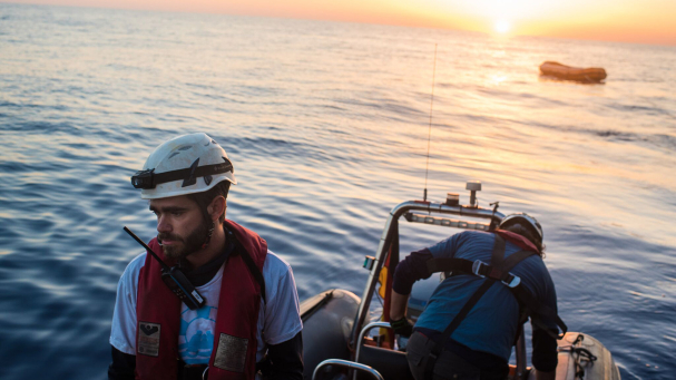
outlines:
[[225, 150], [206, 134], [183, 135], [158, 146], [131, 177], [144, 199], [206, 192], [223, 181], [237, 184]]

